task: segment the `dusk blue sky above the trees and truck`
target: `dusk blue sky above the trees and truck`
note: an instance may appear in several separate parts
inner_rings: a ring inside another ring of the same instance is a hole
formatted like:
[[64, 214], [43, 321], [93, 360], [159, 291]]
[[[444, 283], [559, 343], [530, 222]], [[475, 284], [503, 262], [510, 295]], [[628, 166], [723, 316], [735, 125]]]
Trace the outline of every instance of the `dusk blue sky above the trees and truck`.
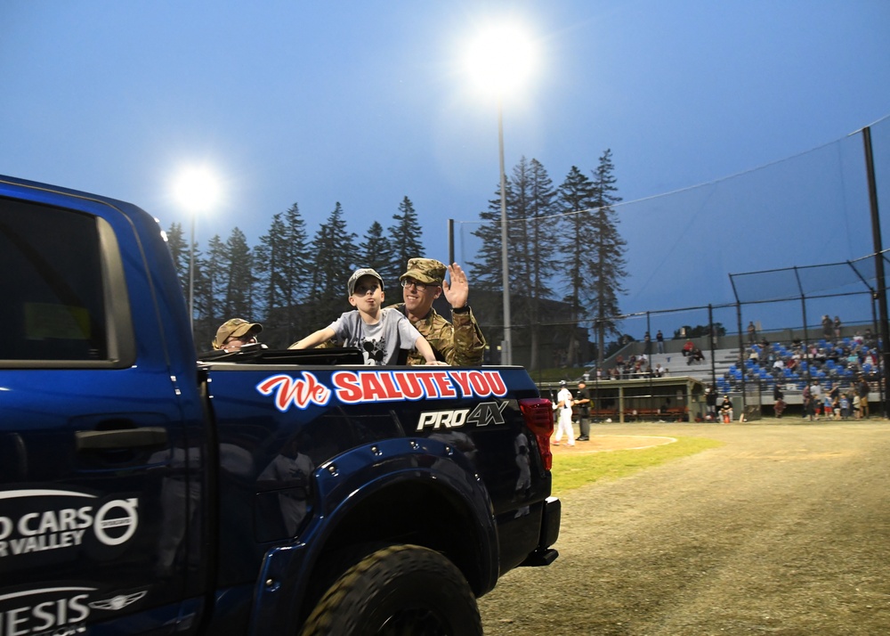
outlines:
[[727, 302], [728, 273], [871, 251], [862, 142], [845, 137], [890, 115], [886, 0], [4, 0], [0, 174], [168, 227], [190, 218], [177, 171], [206, 163], [225, 196], [202, 246], [235, 226], [255, 244], [293, 203], [312, 234], [339, 201], [361, 236], [408, 196], [445, 260], [446, 219], [475, 221], [497, 192], [497, 104], [463, 56], [506, 20], [541, 52], [504, 104], [507, 170], [538, 159], [559, 184], [609, 148], [619, 195], [646, 200], [619, 208], [627, 311]]

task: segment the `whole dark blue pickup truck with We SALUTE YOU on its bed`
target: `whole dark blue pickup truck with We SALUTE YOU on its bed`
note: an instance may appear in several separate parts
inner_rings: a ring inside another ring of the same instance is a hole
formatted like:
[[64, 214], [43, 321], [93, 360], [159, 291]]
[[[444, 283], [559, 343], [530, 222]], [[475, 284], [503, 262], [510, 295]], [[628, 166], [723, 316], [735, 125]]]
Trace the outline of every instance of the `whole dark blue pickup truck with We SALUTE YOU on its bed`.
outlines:
[[556, 558], [521, 367], [199, 359], [154, 218], [4, 176], [0, 263], [0, 636], [465, 636]]

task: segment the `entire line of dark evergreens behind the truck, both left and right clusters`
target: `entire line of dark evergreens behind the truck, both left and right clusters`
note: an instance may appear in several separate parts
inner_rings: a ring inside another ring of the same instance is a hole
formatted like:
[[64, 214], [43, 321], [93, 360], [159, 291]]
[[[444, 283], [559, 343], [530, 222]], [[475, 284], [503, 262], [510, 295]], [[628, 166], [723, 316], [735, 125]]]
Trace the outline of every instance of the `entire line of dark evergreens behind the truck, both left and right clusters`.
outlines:
[[[602, 361], [603, 342], [618, 335], [614, 316], [620, 313], [627, 272], [625, 241], [613, 208], [621, 200], [613, 172], [607, 150], [589, 176], [571, 167], [558, 186], [537, 159], [523, 157], [507, 175], [514, 363], [531, 369], [578, 364], [597, 352]], [[473, 234], [481, 248], [466, 265], [472, 268], [473, 313], [494, 349], [487, 362], [498, 363], [503, 338], [499, 185], [479, 216]], [[215, 235], [206, 249], [194, 246], [199, 348], [210, 348], [219, 324], [236, 316], [263, 322], [261, 341], [287, 347], [351, 308], [345, 283], [356, 267], [375, 268], [387, 283], [387, 301], [400, 302], [396, 281], [409, 258], [447, 260], [425, 253], [423, 229], [407, 196], [389, 227], [373, 221], [361, 238], [346, 227], [340, 203], [312, 236], [309, 232], [295, 203], [272, 216], [259, 245], [249, 246], [236, 227], [225, 241]], [[167, 237], [188, 296], [190, 250], [182, 225], [172, 224]], [[590, 325], [594, 329], [588, 332]]]

